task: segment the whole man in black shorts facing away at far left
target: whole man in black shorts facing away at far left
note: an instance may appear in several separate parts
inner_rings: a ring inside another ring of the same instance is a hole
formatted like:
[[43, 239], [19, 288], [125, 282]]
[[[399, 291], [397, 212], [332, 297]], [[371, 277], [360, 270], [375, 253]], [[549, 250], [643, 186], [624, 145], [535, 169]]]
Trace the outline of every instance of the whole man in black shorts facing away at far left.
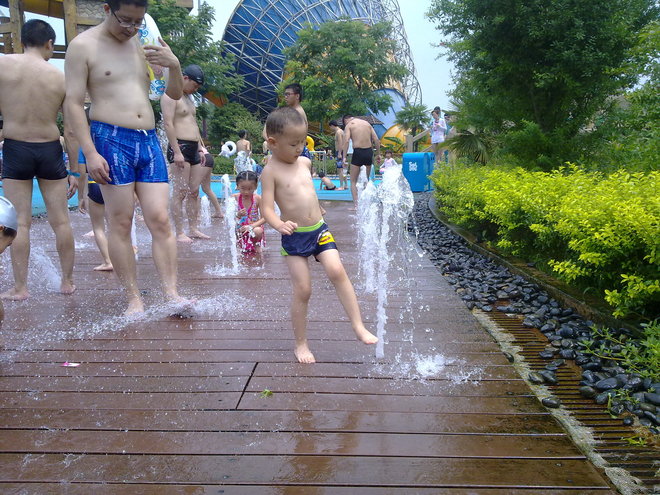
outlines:
[[71, 294], [74, 242], [67, 194], [77, 184], [62, 159], [57, 112], [64, 100], [64, 74], [47, 61], [53, 55], [55, 31], [44, 21], [31, 20], [21, 30], [25, 53], [0, 57], [0, 111], [4, 116], [5, 196], [18, 213], [18, 235], [11, 246], [14, 288], [0, 295], [22, 300], [27, 289], [32, 223], [32, 180], [36, 176], [46, 203], [48, 223], [55, 232], [62, 281], [60, 292]]

